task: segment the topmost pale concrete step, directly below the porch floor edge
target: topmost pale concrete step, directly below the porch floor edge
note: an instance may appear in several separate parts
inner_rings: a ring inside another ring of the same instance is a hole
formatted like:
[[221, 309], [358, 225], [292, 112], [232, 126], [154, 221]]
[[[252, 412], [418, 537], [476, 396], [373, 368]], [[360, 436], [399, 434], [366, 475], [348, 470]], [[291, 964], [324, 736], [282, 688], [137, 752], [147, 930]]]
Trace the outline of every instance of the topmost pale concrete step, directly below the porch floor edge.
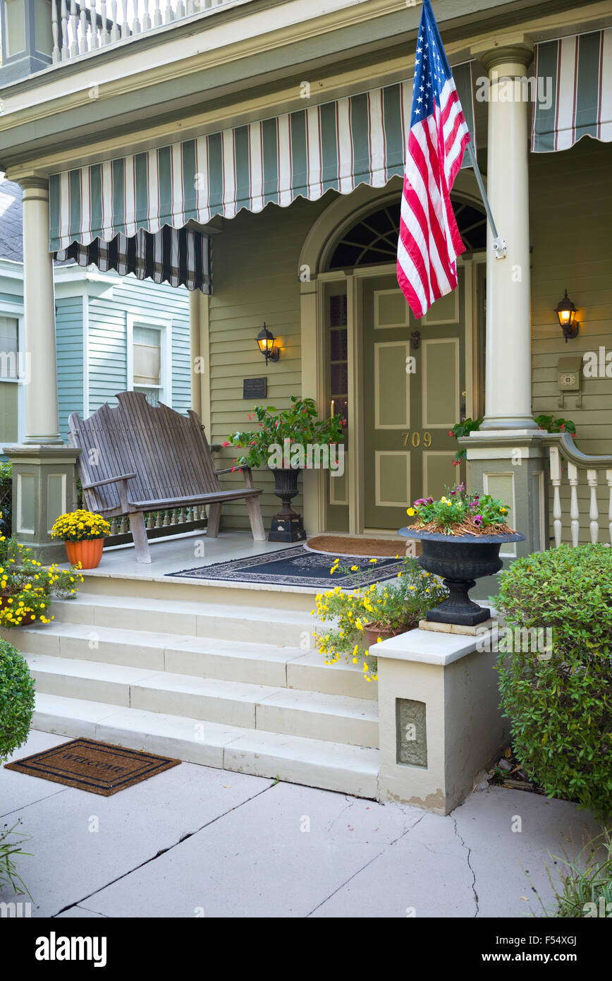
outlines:
[[74, 599], [55, 600], [50, 612], [62, 623], [85, 624], [91, 628], [121, 627], [185, 637], [301, 645], [302, 649], [306, 644], [311, 645], [317, 623], [310, 615], [312, 598], [308, 610], [292, 610], [275, 608], [275, 594], [260, 591], [259, 596], [261, 605], [241, 606], [197, 600], [195, 596], [193, 600], [153, 600], [81, 592]]

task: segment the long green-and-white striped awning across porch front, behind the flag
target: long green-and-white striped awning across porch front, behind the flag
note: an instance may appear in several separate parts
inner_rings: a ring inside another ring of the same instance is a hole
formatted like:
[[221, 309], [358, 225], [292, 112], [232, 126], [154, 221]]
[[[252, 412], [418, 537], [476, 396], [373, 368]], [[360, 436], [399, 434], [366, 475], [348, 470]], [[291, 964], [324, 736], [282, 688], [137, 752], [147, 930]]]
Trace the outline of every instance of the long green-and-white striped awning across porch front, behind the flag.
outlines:
[[[474, 138], [472, 63], [453, 69]], [[316, 200], [402, 175], [412, 79], [50, 179], [50, 249]]]

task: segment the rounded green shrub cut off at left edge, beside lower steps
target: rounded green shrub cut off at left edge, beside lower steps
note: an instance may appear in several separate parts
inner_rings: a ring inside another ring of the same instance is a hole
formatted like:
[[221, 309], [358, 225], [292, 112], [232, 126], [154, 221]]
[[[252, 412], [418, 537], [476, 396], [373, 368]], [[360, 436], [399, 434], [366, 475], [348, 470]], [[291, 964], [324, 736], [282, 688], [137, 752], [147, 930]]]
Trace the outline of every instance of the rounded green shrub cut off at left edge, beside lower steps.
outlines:
[[34, 683], [26, 659], [0, 640], [0, 760], [26, 742], [33, 711]]

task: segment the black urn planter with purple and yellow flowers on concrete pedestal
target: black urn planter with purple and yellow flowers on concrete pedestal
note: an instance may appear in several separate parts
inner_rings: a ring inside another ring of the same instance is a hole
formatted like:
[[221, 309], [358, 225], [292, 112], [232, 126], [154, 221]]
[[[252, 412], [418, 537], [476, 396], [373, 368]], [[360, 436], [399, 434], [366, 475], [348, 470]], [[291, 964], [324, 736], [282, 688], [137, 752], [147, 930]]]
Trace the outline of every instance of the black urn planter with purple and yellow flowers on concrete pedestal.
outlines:
[[488, 620], [490, 610], [473, 602], [469, 591], [477, 579], [499, 572], [503, 542], [523, 542], [525, 536], [506, 524], [508, 505], [490, 494], [468, 493], [465, 484], [447, 493], [439, 500], [416, 500], [407, 513], [417, 521], [399, 534], [421, 540], [419, 565], [441, 576], [448, 588], [448, 598], [426, 619], [473, 627]]

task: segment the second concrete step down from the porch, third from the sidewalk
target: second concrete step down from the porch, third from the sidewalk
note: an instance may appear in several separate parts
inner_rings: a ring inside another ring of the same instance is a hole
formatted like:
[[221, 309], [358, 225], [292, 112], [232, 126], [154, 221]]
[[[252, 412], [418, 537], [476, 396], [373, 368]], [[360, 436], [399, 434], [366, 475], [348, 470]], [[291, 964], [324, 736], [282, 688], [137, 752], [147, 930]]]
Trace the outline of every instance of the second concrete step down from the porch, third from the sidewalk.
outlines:
[[[69, 604], [71, 605], [71, 604]], [[0, 631], [11, 643], [16, 633]], [[254, 644], [192, 638], [86, 624], [33, 624], [19, 632], [18, 646], [26, 654], [100, 661], [148, 671], [169, 671], [277, 688], [376, 700], [377, 684], [366, 684], [352, 662], [329, 665], [317, 650], [274, 644]]]

